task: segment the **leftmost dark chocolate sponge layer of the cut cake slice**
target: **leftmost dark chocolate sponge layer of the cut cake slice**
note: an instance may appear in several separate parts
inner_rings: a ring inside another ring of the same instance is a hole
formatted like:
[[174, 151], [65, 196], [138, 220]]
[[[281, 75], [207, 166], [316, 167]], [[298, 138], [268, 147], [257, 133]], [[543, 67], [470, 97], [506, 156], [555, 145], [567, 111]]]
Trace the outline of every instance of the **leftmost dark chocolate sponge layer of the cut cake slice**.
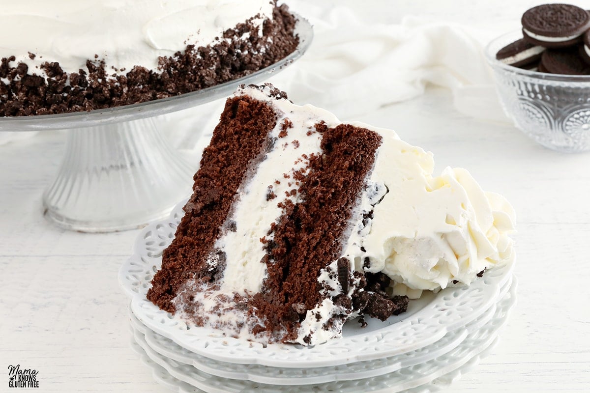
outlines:
[[262, 101], [247, 96], [227, 100], [194, 176], [185, 216], [148, 291], [148, 299], [160, 308], [175, 311], [171, 300], [186, 280], [206, 283], [222, 277], [225, 256], [214, 249], [215, 240], [223, 230], [231, 230], [231, 224], [222, 225], [248, 168], [255, 167], [271, 147], [267, 134], [276, 123], [277, 115]]

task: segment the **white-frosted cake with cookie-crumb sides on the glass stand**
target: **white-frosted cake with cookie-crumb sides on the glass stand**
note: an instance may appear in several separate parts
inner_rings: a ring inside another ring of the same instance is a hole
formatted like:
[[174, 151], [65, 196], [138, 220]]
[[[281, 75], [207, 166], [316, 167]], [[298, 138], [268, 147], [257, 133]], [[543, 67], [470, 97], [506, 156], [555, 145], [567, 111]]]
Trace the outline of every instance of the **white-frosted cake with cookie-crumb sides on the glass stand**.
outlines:
[[0, 16], [0, 116], [189, 93], [268, 67], [299, 42], [274, 0], [4, 1]]

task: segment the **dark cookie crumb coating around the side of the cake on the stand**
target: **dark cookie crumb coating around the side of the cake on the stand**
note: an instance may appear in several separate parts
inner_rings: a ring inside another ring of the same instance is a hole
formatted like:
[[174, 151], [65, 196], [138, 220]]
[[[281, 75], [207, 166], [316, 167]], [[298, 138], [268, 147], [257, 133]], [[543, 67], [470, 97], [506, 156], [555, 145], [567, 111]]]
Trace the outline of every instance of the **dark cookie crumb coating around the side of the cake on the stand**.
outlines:
[[[98, 56], [86, 70], [67, 73], [57, 62], [39, 70], [15, 57], [0, 62], [0, 116], [24, 116], [90, 111], [142, 103], [189, 93], [251, 74], [268, 67], [297, 48], [295, 19], [281, 5], [263, 25], [263, 35], [251, 21], [225, 31], [212, 45], [188, 45], [173, 57], [160, 58], [158, 70], [137, 65], [126, 74], [105, 67]], [[198, 28], [196, 26], [195, 28]], [[243, 37], [248, 37], [244, 39]], [[33, 49], [33, 48], [31, 48]], [[34, 57], [34, 54], [31, 54]]]

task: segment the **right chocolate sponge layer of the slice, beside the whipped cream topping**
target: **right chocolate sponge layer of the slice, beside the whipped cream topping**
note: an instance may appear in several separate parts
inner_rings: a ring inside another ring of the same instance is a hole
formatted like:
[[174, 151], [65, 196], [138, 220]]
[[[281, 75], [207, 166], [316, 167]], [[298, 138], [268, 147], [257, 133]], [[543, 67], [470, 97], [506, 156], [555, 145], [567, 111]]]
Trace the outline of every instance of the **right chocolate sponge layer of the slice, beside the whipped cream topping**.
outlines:
[[[286, 329], [284, 342], [296, 340], [306, 312], [322, 302], [319, 272], [342, 252], [343, 234], [381, 144], [381, 136], [365, 128], [344, 124], [316, 128], [323, 133], [323, 152], [310, 157], [307, 176], [296, 178], [303, 202], [285, 203], [274, 240], [266, 241], [268, 276], [252, 302], [266, 323], [260, 329], [274, 334]], [[349, 270], [347, 262], [347, 282]], [[352, 311], [350, 298], [348, 302]]]

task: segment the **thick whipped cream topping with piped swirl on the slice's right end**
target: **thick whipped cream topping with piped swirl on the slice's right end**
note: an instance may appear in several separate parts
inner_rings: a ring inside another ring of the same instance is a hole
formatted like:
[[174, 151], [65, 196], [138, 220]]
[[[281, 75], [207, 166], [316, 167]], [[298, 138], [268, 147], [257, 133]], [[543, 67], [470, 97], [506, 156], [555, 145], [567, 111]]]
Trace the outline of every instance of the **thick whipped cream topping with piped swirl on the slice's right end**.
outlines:
[[373, 219], [365, 227], [356, 224], [362, 229], [352, 233], [343, 253], [356, 270], [383, 272], [398, 283], [396, 293], [416, 297], [420, 290], [468, 285], [513, 257], [508, 235], [514, 210], [506, 199], [481, 190], [464, 169], [432, 176], [432, 153], [393, 131], [374, 130], [383, 143], [369, 184], [383, 184], [388, 192], [374, 207], [371, 196], [363, 196], [362, 209], [372, 207]]

